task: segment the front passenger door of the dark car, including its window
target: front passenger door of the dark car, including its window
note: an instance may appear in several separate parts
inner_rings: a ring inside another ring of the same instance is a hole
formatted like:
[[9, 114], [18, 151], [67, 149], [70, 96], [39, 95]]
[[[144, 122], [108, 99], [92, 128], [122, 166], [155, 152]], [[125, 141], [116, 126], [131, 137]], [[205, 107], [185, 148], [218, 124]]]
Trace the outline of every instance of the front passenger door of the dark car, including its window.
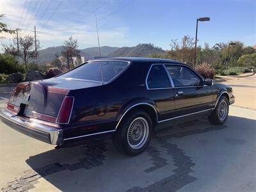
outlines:
[[175, 117], [203, 113], [211, 109], [212, 86], [186, 65], [165, 65], [173, 81]]

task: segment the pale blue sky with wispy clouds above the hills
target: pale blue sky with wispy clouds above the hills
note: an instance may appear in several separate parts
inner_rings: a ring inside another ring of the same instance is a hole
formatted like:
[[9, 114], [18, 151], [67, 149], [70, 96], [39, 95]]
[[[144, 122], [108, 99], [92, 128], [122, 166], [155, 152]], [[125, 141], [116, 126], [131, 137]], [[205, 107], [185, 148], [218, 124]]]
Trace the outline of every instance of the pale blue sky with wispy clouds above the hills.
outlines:
[[[41, 49], [59, 46], [68, 36], [77, 38], [79, 49], [97, 46], [95, 14], [100, 45], [131, 47], [152, 43], [170, 49], [172, 39], [195, 37], [198, 23], [198, 45], [241, 41], [256, 45], [255, 1], [157, 1], [157, 0], [0, 0], [3, 22], [20, 36], [34, 35]], [[15, 35], [4, 36], [2, 44]], [[3, 46], [0, 45], [0, 49]]]

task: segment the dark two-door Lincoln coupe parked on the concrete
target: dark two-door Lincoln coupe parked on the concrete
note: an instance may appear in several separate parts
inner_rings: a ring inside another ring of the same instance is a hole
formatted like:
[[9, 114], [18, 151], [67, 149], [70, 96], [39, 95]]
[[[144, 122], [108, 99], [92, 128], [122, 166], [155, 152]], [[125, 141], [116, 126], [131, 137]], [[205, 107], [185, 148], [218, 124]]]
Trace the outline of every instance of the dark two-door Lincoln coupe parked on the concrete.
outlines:
[[223, 124], [234, 99], [230, 86], [178, 61], [102, 58], [51, 79], [17, 84], [0, 118], [52, 145], [111, 138], [120, 152], [136, 156], [157, 125], [204, 116]]

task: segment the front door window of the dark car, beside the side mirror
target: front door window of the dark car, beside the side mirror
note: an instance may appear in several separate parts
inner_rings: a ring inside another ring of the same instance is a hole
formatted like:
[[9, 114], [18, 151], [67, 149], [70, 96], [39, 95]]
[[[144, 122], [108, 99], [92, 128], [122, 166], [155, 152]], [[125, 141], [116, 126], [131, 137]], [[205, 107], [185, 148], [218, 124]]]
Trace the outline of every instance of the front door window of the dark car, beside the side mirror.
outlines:
[[175, 87], [200, 85], [200, 77], [198, 77], [190, 68], [179, 65], [166, 65], [166, 68], [172, 77]]

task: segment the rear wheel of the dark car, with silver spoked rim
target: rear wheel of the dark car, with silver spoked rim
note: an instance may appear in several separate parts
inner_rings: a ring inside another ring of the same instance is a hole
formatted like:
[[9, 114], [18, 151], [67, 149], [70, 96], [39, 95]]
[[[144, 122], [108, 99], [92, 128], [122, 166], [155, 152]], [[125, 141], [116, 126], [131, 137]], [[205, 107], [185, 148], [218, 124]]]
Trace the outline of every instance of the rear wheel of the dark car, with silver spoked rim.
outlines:
[[113, 136], [116, 149], [129, 156], [143, 152], [152, 134], [152, 120], [144, 111], [134, 111], [124, 117]]

